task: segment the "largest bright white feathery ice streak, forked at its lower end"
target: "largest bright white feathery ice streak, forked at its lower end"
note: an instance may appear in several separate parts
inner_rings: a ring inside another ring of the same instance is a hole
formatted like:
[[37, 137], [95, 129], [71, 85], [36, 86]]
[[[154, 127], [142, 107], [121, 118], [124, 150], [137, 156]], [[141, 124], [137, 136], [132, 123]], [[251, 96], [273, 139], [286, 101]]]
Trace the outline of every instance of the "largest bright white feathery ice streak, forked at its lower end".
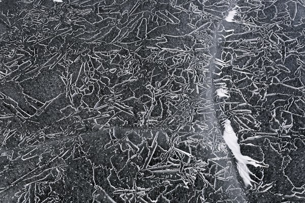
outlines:
[[237, 143], [237, 136], [231, 126], [230, 120], [225, 120], [225, 130], [224, 130], [223, 138], [224, 138], [226, 144], [228, 145], [228, 147], [230, 148], [230, 150], [232, 151], [233, 155], [235, 156], [236, 163], [237, 163], [237, 170], [238, 170], [238, 173], [239, 173], [240, 177], [242, 178], [243, 182], [245, 183], [246, 186], [248, 186], [248, 185], [252, 186], [251, 182], [254, 182], [254, 183], [256, 183], [256, 182], [251, 179], [250, 174], [252, 174], [252, 173], [249, 171], [247, 164], [254, 165], [255, 167], [257, 167], [257, 166], [266, 167], [266, 166], [261, 165], [261, 164], [259, 164], [258, 161], [252, 159], [249, 156], [243, 156], [240, 153], [240, 147]]

